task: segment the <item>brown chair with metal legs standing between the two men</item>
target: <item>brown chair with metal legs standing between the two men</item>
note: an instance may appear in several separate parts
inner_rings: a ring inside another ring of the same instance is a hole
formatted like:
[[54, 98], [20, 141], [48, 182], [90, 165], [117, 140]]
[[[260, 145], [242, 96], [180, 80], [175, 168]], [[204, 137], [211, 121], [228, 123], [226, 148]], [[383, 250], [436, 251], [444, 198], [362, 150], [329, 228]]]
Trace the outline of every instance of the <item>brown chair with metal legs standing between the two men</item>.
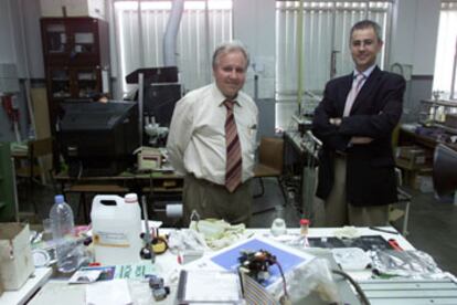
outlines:
[[284, 139], [275, 137], [262, 137], [258, 147], [258, 162], [254, 168], [254, 178], [258, 178], [261, 183], [261, 193], [254, 198], [264, 196], [265, 186], [262, 178], [276, 177], [279, 189], [284, 197], [284, 204], [287, 202], [286, 192], [283, 188], [283, 164], [284, 164]]

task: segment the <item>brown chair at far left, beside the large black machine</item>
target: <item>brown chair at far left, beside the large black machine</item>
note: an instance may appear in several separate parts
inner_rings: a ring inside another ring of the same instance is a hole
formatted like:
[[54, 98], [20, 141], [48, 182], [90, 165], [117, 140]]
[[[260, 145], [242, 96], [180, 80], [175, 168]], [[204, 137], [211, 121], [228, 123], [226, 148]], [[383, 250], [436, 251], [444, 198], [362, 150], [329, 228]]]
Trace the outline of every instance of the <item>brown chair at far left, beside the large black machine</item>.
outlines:
[[[34, 180], [40, 178], [41, 182], [44, 183], [46, 178], [52, 177], [52, 161], [50, 161], [50, 168], [46, 170], [44, 166], [43, 157], [49, 156], [50, 160], [52, 160], [52, 138], [43, 138], [43, 139], [35, 139], [30, 140], [28, 143], [28, 150], [24, 156], [26, 159], [26, 165], [19, 167], [15, 170], [15, 175], [20, 178], [28, 179], [29, 187], [26, 190], [28, 198], [31, 198], [33, 203], [34, 212], [38, 213], [36, 202], [33, 197], [34, 191]], [[31, 196], [29, 196], [31, 194]]]

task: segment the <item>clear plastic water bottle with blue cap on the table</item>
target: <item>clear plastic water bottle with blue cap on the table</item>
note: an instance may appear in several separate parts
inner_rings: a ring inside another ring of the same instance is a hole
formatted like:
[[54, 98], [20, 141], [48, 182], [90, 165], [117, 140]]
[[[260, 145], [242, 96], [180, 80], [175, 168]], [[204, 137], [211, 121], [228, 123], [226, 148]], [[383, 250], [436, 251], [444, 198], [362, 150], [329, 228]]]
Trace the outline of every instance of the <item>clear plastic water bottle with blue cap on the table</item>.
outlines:
[[76, 241], [72, 236], [74, 218], [72, 208], [62, 194], [55, 196], [55, 203], [50, 211], [52, 238], [55, 243], [55, 256], [60, 272], [70, 273], [78, 267]]

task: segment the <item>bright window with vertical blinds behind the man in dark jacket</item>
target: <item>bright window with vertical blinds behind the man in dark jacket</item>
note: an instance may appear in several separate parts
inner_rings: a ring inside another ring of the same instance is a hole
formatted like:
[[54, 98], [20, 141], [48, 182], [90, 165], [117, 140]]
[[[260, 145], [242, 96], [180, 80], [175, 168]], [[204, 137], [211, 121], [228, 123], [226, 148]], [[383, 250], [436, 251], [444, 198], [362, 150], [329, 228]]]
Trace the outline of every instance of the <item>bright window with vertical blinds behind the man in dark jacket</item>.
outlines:
[[[277, 127], [287, 125], [286, 122], [278, 122], [281, 120], [280, 116], [290, 117], [297, 109], [299, 14], [302, 13], [302, 108], [311, 112], [319, 98], [310, 96], [320, 95], [331, 77], [353, 70], [348, 43], [349, 32], [357, 21], [376, 21], [382, 28], [383, 40], [386, 41], [392, 1], [304, 1], [302, 12], [299, 9], [299, 1], [276, 1]], [[384, 62], [383, 49], [378, 64], [382, 67]]]

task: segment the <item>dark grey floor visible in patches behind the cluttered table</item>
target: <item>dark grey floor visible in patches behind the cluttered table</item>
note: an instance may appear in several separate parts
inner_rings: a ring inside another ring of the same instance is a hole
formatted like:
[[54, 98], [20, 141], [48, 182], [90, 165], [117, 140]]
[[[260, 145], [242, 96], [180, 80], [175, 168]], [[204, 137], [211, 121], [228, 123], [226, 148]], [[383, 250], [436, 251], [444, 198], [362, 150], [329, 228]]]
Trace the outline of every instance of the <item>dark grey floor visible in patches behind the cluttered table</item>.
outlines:
[[[275, 218], [283, 218], [289, 228], [298, 227], [300, 213], [295, 204], [284, 204], [283, 194], [275, 179], [264, 179], [265, 194], [254, 199], [254, 215], [252, 227], [269, 228]], [[255, 192], [258, 185], [255, 182]], [[421, 193], [412, 191], [413, 202], [411, 204], [410, 234], [407, 239], [418, 250], [431, 254], [444, 271], [457, 274], [457, 206], [448, 199], [446, 202], [438, 201], [433, 193]], [[33, 198], [39, 207], [36, 222], [46, 218], [53, 203], [54, 190], [52, 187], [40, 187]], [[21, 185], [19, 188], [20, 210], [32, 211], [33, 206], [25, 199], [25, 189]], [[82, 222], [81, 212], [77, 212], [77, 196], [68, 197], [68, 202], [77, 217], [76, 222]], [[289, 202], [293, 202], [293, 193], [289, 193]], [[261, 210], [267, 210], [259, 212]], [[402, 222], [394, 224], [401, 230]]]

